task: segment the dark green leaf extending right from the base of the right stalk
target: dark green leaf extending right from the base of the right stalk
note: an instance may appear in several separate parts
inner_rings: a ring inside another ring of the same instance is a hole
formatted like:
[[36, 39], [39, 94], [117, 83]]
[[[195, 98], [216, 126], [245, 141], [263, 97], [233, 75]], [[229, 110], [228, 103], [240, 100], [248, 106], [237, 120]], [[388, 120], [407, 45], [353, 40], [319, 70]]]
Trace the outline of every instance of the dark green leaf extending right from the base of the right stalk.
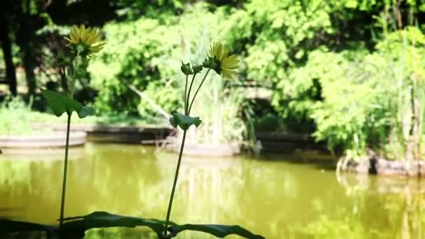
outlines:
[[171, 233], [173, 233], [174, 235], [177, 235], [178, 233], [185, 230], [201, 231], [204, 233], [209, 233], [213, 236], [217, 236], [218, 238], [224, 238], [225, 236], [235, 234], [248, 239], [264, 239], [263, 236], [251, 233], [247, 229], [236, 225], [226, 226], [219, 224], [185, 224], [182, 226], [170, 226], [170, 228], [168, 229], [168, 231], [171, 231]]

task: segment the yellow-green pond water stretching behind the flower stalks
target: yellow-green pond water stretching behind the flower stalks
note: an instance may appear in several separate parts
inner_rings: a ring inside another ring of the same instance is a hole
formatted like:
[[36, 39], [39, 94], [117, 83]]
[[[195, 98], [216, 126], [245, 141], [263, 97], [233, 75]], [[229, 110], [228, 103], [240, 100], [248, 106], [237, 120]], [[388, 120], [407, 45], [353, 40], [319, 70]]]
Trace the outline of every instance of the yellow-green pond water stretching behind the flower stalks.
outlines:
[[[139, 145], [72, 148], [65, 214], [105, 210], [164, 219], [176, 160]], [[266, 238], [425, 238], [424, 181], [337, 178], [334, 164], [303, 154], [184, 157], [171, 218], [239, 224]], [[1, 156], [0, 217], [55, 223], [62, 166], [56, 152]], [[87, 238], [99, 235], [140, 238], [122, 229], [94, 230]], [[178, 238], [208, 237], [185, 232]]]

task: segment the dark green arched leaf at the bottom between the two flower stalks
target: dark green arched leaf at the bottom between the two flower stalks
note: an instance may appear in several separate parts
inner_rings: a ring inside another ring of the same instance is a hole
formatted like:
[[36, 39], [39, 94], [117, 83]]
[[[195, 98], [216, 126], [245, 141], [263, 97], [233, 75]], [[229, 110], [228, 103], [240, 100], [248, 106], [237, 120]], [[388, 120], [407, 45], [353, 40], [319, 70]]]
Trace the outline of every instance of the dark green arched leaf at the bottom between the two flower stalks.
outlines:
[[[110, 214], [109, 212], [92, 212], [89, 215], [82, 217], [70, 217], [65, 218], [64, 220], [68, 222], [63, 224], [61, 233], [64, 233], [66, 236], [72, 235], [79, 238], [82, 238], [85, 235], [85, 231], [89, 229], [102, 227], [147, 226], [155, 233], [157, 233], [158, 237], [161, 236], [161, 233], [165, 228], [165, 221], [138, 217], [125, 217], [121, 215]], [[169, 224], [175, 225], [173, 222], [170, 222]]]

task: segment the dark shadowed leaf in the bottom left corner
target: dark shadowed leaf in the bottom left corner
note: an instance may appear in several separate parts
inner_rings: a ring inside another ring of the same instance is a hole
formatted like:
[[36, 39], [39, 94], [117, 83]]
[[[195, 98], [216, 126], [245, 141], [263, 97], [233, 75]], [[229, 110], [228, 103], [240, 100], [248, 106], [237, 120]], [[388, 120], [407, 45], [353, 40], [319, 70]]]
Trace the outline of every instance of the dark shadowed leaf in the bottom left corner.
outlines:
[[8, 233], [24, 232], [24, 231], [45, 231], [48, 235], [55, 232], [57, 227], [36, 224], [32, 222], [20, 222], [9, 219], [0, 219], [0, 238]]

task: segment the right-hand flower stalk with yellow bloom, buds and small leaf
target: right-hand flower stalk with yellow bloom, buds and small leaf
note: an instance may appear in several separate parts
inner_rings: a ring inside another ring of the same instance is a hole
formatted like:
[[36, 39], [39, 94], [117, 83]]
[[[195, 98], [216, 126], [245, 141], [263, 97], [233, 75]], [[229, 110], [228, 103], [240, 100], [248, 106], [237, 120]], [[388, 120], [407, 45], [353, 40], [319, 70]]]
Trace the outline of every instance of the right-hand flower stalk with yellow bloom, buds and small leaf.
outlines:
[[[190, 111], [192, 110], [192, 106], [194, 104], [196, 96], [198, 95], [198, 92], [201, 89], [203, 82], [205, 82], [208, 76], [208, 73], [210, 73], [211, 70], [214, 70], [217, 74], [222, 75], [222, 77], [224, 78], [231, 79], [233, 78], [233, 75], [237, 73], [238, 67], [239, 67], [238, 60], [236, 59], [236, 56], [235, 55], [229, 56], [229, 51], [226, 50], [224, 45], [222, 45], [221, 43], [214, 43], [211, 46], [210, 50], [207, 52], [207, 57], [203, 61], [202, 65], [199, 64], [199, 65], [190, 66], [189, 63], [184, 64], [182, 62], [182, 66], [180, 67], [180, 70], [186, 76], [185, 95], [183, 97], [185, 113], [184, 114], [174, 113], [173, 117], [170, 118], [170, 123], [175, 128], [177, 128], [177, 126], [180, 126], [180, 128], [183, 130], [183, 136], [182, 136], [182, 143], [180, 145], [180, 152], [178, 154], [177, 167], [175, 168], [173, 187], [171, 189], [170, 200], [168, 202], [166, 222], [165, 222], [164, 232], [162, 233], [162, 238], [173, 237], [172, 234], [167, 234], [167, 230], [168, 230], [168, 224], [170, 224], [171, 208], [173, 206], [175, 187], [177, 185], [178, 174], [180, 172], [180, 164], [182, 162], [183, 150], [185, 149], [187, 129], [189, 129], [189, 126], [191, 126], [192, 124], [195, 125], [196, 127], [199, 126], [199, 124], [201, 124], [201, 119], [199, 119], [199, 117], [190, 116]], [[198, 73], [201, 73], [203, 68], [208, 68], [208, 70], [206, 71], [205, 75], [203, 75], [203, 78], [201, 82], [199, 83], [198, 87], [196, 88], [195, 94], [194, 96], [192, 96], [192, 100], [191, 100], [191, 92], [192, 92], [192, 87], [194, 85], [194, 82], [196, 81], [196, 75]], [[192, 75], [192, 80], [188, 88], [187, 86], [188, 86], [189, 75]]]

